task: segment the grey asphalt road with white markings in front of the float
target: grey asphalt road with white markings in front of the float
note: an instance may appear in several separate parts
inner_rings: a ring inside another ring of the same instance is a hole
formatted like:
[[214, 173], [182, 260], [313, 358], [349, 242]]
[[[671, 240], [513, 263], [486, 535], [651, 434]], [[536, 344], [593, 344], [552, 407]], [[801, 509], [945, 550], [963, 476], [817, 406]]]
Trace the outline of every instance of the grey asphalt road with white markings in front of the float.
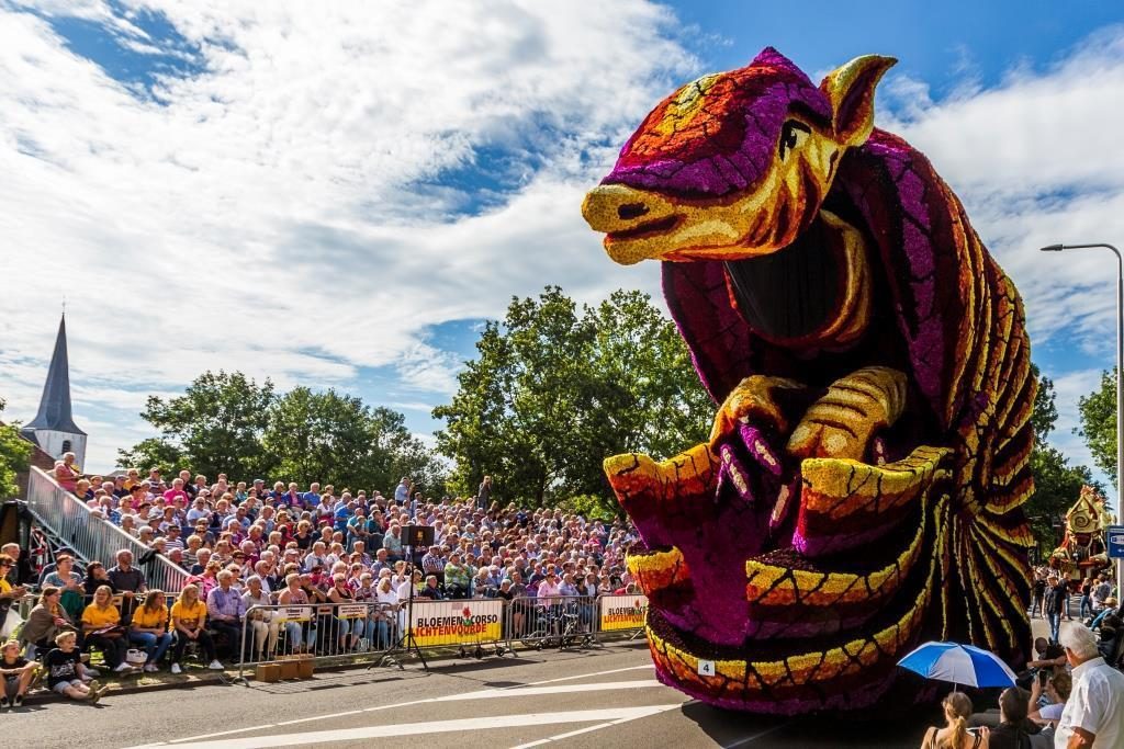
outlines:
[[[889, 719], [889, 716], [888, 716]], [[36, 703], [0, 714], [6, 746], [815, 747], [915, 748], [935, 715], [877, 723], [765, 719], [714, 710], [658, 684], [647, 648], [533, 652], [375, 668], [303, 683], [211, 685]], [[418, 739], [406, 739], [417, 736]]]

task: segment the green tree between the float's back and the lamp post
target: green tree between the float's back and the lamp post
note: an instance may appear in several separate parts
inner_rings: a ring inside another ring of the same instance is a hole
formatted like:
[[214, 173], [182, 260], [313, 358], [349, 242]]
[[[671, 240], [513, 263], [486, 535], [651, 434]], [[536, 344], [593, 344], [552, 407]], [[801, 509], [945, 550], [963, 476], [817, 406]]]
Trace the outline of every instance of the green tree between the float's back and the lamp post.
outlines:
[[1034, 494], [1023, 505], [1031, 522], [1031, 530], [1043, 552], [1049, 554], [1059, 540], [1053, 522], [1066, 514], [1077, 501], [1081, 486], [1096, 486], [1086, 466], [1071, 466], [1064, 455], [1046, 439], [1058, 421], [1054, 404], [1057, 392], [1053, 381], [1042, 376], [1036, 365], [1031, 365], [1032, 376], [1039, 380], [1039, 392], [1031, 412], [1034, 447], [1031, 451], [1031, 473], [1034, 475]]

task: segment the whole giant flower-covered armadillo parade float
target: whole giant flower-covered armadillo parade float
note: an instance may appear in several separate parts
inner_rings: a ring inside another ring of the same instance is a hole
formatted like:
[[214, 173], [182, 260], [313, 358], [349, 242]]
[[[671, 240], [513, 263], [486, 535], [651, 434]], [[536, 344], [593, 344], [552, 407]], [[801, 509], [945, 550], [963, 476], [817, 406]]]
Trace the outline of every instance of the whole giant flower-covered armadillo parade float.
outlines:
[[862, 710], [923, 639], [1025, 660], [1022, 302], [930, 162], [873, 127], [894, 63], [816, 86], [767, 48], [688, 83], [582, 205], [614, 261], [662, 262], [720, 404], [707, 442], [605, 463], [659, 678], [715, 705]]

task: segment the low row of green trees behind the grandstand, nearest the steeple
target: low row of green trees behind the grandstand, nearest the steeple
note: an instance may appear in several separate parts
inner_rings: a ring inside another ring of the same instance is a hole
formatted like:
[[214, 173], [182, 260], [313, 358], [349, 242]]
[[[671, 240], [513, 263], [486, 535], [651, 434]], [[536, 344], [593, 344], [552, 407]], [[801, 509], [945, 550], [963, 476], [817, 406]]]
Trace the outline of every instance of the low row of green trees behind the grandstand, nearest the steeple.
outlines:
[[140, 415], [161, 437], [119, 450], [119, 466], [381, 491], [408, 475], [430, 493], [444, 490], [444, 465], [401, 413], [335, 390], [278, 394], [269, 380], [206, 372], [179, 398], [149, 398]]

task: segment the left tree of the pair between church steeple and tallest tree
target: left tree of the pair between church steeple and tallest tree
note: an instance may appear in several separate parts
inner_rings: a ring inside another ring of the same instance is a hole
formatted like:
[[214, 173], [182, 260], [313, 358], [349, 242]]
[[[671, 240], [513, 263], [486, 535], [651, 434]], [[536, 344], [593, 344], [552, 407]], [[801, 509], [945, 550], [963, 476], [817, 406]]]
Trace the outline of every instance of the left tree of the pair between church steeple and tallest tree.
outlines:
[[207, 371], [179, 398], [148, 398], [140, 417], [161, 437], [118, 450], [117, 463], [147, 467], [171, 460], [209, 477], [264, 475], [273, 459], [262, 445], [262, 435], [275, 401], [269, 380], [259, 385], [241, 372]]

